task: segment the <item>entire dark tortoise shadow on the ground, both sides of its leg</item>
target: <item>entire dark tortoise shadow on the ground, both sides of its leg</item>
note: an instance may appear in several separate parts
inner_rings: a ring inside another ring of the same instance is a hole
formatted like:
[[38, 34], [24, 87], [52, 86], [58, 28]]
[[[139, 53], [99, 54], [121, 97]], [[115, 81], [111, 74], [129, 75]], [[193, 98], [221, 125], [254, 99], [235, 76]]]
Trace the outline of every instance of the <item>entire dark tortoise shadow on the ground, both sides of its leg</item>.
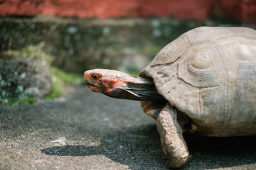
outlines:
[[[182, 169], [216, 169], [256, 163], [256, 136], [207, 138], [185, 135], [191, 158]], [[44, 148], [41, 152], [58, 156], [105, 155], [131, 169], [165, 169], [156, 125], [125, 127], [109, 132], [99, 146], [68, 145]]]

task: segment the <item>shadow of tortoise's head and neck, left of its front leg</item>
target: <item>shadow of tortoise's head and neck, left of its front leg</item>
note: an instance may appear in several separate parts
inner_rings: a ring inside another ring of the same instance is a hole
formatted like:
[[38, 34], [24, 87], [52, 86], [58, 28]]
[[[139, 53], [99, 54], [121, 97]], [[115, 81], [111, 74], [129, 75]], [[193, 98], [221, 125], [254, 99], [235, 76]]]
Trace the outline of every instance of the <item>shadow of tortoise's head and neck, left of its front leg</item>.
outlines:
[[127, 127], [112, 131], [100, 139], [99, 146], [67, 145], [44, 148], [41, 152], [58, 156], [105, 155], [131, 169], [164, 168], [165, 157], [161, 151], [156, 125]]

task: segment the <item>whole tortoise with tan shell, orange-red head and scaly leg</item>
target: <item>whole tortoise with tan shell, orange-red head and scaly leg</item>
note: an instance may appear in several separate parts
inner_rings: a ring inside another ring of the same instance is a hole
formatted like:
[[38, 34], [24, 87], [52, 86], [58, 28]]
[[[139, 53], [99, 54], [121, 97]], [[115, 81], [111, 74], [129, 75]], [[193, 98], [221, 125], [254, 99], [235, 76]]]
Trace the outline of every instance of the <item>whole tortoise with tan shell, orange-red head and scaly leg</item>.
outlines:
[[168, 167], [188, 160], [184, 132], [256, 134], [256, 31], [250, 28], [197, 27], [164, 46], [139, 76], [93, 69], [84, 80], [94, 92], [141, 101], [156, 119]]

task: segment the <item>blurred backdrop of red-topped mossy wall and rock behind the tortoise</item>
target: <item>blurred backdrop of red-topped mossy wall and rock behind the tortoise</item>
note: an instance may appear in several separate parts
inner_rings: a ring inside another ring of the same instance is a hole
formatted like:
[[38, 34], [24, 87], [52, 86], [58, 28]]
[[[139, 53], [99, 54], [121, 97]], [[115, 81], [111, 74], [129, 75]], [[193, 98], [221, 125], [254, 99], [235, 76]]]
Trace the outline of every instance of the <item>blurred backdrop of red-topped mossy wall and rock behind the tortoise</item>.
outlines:
[[1, 0], [0, 103], [61, 96], [97, 67], [138, 74], [199, 26], [256, 28], [256, 0]]

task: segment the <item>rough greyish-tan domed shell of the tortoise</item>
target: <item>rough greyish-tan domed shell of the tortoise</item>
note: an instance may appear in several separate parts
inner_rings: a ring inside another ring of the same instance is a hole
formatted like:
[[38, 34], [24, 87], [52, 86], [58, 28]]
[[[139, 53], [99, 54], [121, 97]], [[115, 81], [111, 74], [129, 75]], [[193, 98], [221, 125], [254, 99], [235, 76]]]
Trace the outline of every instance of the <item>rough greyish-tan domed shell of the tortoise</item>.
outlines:
[[256, 134], [256, 31], [198, 27], [166, 45], [141, 76], [207, 136]]

